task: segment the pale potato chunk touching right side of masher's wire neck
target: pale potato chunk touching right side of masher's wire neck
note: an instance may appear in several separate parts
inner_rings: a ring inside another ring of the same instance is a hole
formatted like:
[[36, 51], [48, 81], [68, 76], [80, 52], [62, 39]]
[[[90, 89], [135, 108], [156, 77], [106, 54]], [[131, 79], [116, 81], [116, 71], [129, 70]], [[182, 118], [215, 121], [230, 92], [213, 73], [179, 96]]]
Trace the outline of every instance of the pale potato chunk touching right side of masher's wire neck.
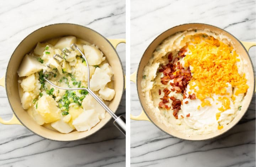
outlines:
[[110, 81], [111, 78], [106, 71], [96, 68], [90, 80], [90, 88], [92, 91], [98, 91], [104, 88]]

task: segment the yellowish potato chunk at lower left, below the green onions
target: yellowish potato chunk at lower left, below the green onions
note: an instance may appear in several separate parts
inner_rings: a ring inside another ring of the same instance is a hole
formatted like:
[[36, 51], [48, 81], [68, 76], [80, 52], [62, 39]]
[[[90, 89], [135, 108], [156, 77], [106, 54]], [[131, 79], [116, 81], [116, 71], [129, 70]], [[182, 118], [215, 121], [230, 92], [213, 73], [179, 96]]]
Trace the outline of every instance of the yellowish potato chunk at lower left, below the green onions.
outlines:
[[58, 103], [49, 95], [43, 95], [37, 102], [36, 111], [43, 117], [44, 123], [51, 123], [61, 118]]

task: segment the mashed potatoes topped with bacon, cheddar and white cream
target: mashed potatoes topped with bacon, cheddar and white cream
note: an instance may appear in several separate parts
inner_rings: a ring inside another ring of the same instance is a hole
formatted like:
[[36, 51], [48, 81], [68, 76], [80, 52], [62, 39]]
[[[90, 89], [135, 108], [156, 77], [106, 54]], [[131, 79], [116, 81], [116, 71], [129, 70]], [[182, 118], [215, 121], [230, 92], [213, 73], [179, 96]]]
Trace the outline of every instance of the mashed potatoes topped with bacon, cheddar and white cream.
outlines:
[[155, 50], [143, 71], [143, 96], [155, 116], [187, 135], [229, 124], [248, 90], [246, 62], [222, 34], [178, 32]]

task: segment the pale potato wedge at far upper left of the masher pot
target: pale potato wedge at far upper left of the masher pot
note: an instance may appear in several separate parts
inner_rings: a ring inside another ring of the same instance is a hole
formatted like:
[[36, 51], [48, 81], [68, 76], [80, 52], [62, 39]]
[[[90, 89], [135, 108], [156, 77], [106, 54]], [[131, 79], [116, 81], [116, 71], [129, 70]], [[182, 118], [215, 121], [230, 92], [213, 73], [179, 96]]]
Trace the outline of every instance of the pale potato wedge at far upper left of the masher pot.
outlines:
[[43, 69], [43, 65], [36, 58], [26, 54], [17, 73], [19, 77], [28, 76]]

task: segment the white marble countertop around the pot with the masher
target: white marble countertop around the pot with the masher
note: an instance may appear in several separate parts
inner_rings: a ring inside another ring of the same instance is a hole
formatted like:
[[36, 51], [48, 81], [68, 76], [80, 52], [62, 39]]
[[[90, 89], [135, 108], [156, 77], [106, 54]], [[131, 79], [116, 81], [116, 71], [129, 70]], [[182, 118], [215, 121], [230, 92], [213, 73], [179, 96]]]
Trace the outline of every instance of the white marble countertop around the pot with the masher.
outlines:
[[[125, 1], [4, 1], [0, 7], [0, 76], [16, 46], [34, 30], [52, 23], [76, 23], [95, 29], [107, 38], [125, 38]], [[125, 44], [117, 52], [125, 70]], [[0, 117], [12, 111], [0, 88]], [[118, 114], [125, 115], [125, 93]], [[74, 167], [125, 166], [126, 141], [110, 121], [87, 139], [57, 142], [34, 135], [21, 125], [0, 124], [0, 166]]]

